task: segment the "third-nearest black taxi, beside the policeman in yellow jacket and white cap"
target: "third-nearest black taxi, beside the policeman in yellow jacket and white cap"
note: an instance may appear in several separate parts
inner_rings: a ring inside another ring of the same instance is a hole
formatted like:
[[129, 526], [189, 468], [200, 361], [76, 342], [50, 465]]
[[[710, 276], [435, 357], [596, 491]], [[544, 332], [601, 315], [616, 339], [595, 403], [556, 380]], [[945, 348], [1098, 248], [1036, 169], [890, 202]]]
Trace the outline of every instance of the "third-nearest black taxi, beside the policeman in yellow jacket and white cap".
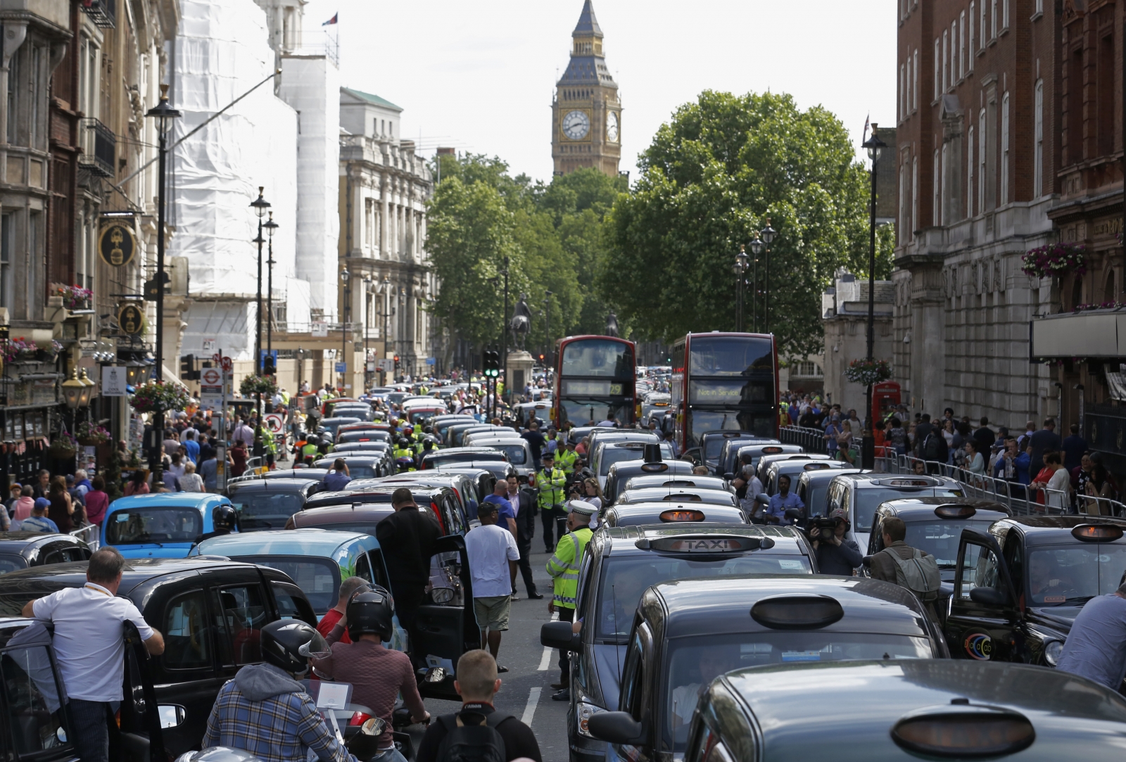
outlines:
[[750, 525], [634, 526], [600, 529], [579, 571], [575, 619], [548, 622], [540, 639], [577, 651], [571, 660], [568, 737], [572, 760], [601, 760], [606, 744], [587, 727], [595, 714], [618, 706], [618, 675], [642, 592], [665, 580], [707, 577], [713, 588], [740, 574], [813, 574], [816, 558], [793, 527]]

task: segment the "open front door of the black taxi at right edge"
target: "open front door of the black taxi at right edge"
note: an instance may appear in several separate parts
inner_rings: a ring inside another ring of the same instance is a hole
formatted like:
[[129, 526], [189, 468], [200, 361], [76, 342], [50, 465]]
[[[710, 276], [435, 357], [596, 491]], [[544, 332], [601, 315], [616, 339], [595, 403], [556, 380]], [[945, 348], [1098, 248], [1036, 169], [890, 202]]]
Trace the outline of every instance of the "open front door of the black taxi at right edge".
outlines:
[[955, 658], [1012, 661], [1013, 634], [1021, 617], [997, 538], [964, 528], [956, 571], [945, 626], [950, 654]]

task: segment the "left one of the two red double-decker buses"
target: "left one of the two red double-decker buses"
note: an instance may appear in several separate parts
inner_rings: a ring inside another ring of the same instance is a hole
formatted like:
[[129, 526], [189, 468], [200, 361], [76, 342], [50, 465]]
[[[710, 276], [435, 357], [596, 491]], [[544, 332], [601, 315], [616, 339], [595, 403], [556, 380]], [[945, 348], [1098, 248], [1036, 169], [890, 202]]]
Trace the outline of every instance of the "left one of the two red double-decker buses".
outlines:
[[556, 425], [595, 425], [617, 421], [632, 427], [637, 403], [637, 347], [615, 337], [566, 337], [556, 342]]

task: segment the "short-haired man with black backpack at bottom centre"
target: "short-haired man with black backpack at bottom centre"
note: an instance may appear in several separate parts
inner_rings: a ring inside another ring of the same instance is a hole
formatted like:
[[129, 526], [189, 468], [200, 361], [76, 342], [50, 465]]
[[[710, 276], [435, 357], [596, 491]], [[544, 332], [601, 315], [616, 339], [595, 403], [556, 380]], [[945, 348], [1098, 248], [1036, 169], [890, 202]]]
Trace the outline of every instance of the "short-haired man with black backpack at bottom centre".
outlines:
[[467, 651], [457, 660], [454, 690], [462, 710], [444, 715], [427, 728], [415, 762], [543, 762], [531, 728], [493, 708], [500, 690], [497, 660], [486, 651]]

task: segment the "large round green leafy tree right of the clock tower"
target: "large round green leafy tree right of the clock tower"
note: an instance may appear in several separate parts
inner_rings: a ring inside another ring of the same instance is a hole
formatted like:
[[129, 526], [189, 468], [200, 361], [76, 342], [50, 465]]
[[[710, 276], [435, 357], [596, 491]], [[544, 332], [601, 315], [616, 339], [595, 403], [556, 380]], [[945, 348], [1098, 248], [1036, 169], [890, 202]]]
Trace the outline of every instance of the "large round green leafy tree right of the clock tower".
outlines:
[[[868, 174], [837, 117], [802, 111], [787, 95], [705, 91], [661, 126], [640, 167], [634, 192], [606, 218], [597, 280], [638, 338], [733, 330], [735, 256], [769, 219], [778, 234], [769, 325], [759, 328], [777, 334], [784, 356], [820, 351], [821, 293], [833, 271], [867, 276]], [[881, 241], [883, 278], [891, 248]], [[766, 267], [763, 257], [760, 288]], [[750, 303], [748, 290], [744, 330], [753, 328]]]

